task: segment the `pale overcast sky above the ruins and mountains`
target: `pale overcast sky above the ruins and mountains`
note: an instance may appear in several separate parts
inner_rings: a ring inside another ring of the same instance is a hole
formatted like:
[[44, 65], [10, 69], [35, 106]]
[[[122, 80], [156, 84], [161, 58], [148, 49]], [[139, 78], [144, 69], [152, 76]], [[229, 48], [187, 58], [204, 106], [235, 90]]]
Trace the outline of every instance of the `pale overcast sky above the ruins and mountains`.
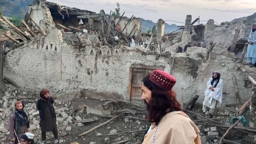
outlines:
[[[186, 15], [192, 15], [192, 21], [200, 16], [200, 21], [214, 19], [220, 23], [245, 17], [256, 12], [255, 0], [47, 0], [69, 7], [76, 7], [99, 13], [101, 9], [109, 14], [116, 3], [120, 4], [120, 13], [125, 16], [140, 17], [157, 22], [158, 19], [185, 22]], [[166, 21], [169, 24], [182, 23]]]

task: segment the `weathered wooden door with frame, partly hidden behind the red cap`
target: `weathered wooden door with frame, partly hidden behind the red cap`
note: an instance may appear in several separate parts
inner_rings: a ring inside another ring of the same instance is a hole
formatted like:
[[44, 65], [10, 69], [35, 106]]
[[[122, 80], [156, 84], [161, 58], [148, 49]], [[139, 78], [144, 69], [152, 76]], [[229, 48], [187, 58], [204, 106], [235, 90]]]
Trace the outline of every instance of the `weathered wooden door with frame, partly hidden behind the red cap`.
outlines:
[[155, 69], [164, 70], [164, 67], [149, 67], [149, 66], [140, 66], [140, 65], [132, 65], [130, 68], [130, 76], [129, 76], [129, 87], [128, 87], [128, 99], [134, 102], [141, 102], [141, 84], [143, 78], [150, 74]]

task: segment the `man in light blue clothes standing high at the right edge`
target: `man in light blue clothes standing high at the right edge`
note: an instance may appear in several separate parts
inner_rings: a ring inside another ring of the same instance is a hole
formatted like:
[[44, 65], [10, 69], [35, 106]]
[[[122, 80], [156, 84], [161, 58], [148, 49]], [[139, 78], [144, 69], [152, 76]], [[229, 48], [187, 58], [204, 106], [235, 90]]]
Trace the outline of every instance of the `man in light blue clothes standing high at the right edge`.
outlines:
[[256, 24], [252, 25], [251, 32], [248, 35], [248, 47], [247, 47], [247, 62], [249, 63], [250, 67], [253, 67], [256, 62]]

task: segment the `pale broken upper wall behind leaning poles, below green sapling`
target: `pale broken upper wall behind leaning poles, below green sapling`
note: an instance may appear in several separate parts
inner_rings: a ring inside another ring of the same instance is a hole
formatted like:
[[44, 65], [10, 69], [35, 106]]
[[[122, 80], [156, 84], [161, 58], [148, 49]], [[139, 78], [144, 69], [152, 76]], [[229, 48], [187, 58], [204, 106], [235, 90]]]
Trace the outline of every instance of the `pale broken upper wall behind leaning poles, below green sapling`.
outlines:
[[[120, 17], [117, 17], [115, 19], [115, 25], [117, 24], [117, 22], [119, 21]], [[138, 34], [141, 32], [141, 28], [142, 28], [142, 23], [141, 23], [141, 19], [140, 18], [132, 18], [131, 21], [129, 22], [130, 18], [127, 17], [123, 17], [120, 22], [119, 25], [121, 27], [121, 30], [123, 30], [125, 28], [125, 25], [127, 24], [126, 28], [123, 31], [123, 34], [126, 36], [129, 36], [129, 34], [131, 33], [134, 25], [136, 24], [136, 27], [133, 29], [132, 33], [130, 36], [133, 35], [133, 33], [136, 31], [136, 33], [134, 34], [136, 37], [138, 36]]]

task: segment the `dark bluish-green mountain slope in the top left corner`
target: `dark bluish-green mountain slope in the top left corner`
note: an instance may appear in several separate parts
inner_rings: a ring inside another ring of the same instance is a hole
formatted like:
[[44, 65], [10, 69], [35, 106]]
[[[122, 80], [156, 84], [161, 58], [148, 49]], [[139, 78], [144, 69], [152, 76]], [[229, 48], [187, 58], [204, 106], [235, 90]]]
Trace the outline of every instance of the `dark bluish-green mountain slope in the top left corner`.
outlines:
[[28, 11], [28, 4], [33, 0], [0, 0], [1, 11], [4, 16], [24, 18]]

